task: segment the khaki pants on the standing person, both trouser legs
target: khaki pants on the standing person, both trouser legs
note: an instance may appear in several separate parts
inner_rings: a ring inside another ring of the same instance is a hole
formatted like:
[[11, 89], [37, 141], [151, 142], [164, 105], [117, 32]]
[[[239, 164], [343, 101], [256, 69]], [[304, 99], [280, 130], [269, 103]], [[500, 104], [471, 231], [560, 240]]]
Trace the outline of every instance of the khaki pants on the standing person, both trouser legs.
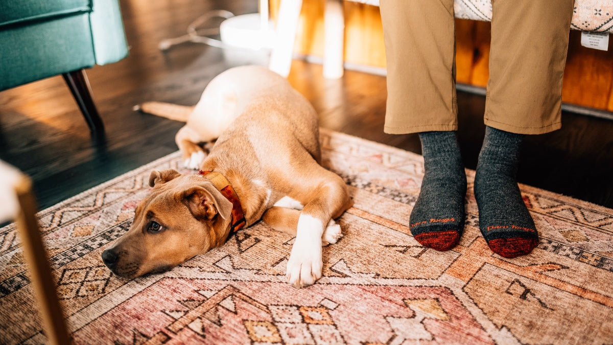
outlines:
[[[492, 0], [485, 125], [560, 128], [574, 0]], [[392, 134], [457, 130], [453, 0], [381, 0]]]

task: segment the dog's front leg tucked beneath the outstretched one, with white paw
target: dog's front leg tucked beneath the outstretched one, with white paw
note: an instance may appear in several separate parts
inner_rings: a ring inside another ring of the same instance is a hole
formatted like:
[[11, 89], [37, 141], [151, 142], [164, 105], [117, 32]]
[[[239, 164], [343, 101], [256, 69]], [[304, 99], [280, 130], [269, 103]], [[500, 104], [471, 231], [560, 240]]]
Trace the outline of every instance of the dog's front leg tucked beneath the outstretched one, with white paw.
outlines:
[[[276, 231], [288, 233], [292, 236], [296, 236], [299, 219], [299, 210], [279, 206], [268, 209], [264, 215], [262, 215], [262, 220], [270, 225], [270, 227]], [[328, 222], [324, 229], [324, 235], [321, 236], [321, 245], [327, 246], [330, 243], [335, 244], [342, 236], [340, 225], [330, 219], [330, 222]]]

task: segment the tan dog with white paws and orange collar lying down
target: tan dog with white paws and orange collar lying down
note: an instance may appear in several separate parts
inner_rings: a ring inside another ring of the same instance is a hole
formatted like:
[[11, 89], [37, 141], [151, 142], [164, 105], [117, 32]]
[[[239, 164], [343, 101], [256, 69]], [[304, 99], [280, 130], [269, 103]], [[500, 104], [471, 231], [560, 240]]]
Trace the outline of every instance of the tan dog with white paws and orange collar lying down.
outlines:
[[[333, 219], [352, 204], [343, 179], [319, 164], [313, 106], [275, 72], [242, 66], [215, 77], [186, 122], [177, 144], [188, 166], [199, 163], [199, 174], [151, 172], [153, 188], [130, 230], [102, 253], [105, 265], [127, 278], [161, 273], [263, 219], [296, 236], [287, 282], [313, 284], [322, 245], [341, 236]], [[197, 144], [216, 136], [205, 158]]]

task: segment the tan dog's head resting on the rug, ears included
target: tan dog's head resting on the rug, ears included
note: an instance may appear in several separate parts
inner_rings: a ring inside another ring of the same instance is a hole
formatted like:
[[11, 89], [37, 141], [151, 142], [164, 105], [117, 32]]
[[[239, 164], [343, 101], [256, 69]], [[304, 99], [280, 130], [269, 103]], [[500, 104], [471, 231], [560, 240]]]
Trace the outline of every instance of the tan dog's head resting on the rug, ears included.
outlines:
[[232, 203], [204, 177], [153, 171], [149, 185], [130, 230], [102, 253], [121, 277], [167, 271], [220, 246], [229, 232]]

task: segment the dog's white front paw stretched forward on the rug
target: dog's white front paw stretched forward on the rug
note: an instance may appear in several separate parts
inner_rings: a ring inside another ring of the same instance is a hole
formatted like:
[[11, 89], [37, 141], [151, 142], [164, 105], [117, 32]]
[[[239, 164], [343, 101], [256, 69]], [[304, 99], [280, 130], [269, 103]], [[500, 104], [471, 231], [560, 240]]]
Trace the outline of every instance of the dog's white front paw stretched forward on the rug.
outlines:
[[287, 282], [296, 288], [313, 284], [321, 278], [321, 220], [301, 214], [292, 252], [287, 260]]

